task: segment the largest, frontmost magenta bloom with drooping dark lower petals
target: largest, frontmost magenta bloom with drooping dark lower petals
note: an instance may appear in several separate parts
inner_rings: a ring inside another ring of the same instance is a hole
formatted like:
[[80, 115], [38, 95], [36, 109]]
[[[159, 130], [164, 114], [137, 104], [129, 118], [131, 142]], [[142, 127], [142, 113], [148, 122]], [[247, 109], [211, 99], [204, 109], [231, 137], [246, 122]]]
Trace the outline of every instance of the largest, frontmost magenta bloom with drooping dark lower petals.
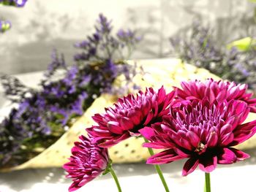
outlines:
[[148, 164], [167, 164], [189, 158], [182, 175], [193, 172], [197, 166], [203, 172], [212, 172], [217, 164], [233, 164], [249, 155], [233, 146], [252, 137], [256, 120], [244, 123], [250, 108], [244, 101], [192, 101], [171, 108], [162, 123], [140, 130], [148, 139], [144, 147], [165, 149], [148, 158]]

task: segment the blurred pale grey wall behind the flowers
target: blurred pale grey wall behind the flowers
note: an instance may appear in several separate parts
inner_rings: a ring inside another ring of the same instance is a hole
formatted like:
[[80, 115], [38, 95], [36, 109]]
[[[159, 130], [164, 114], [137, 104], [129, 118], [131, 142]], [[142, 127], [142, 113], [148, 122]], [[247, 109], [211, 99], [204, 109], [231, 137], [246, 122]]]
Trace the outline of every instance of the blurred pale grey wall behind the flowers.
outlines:
[[250, 33], [254, 12], [246, 0], [33, 0], [22, 9], [0, 7], [0, 17], [12, 22], [0, 38], [1, 72], [45, 70], [53, 47], [73, 64], [73, 45], [91, 34], [99, 13], [113, 20], [114, 31], [136, 28], [143, 35], [132, 58], [162, 58], [170, 55], [168, 39], [186, 32], [193, 20], [214, 27], [219, 42], [230, 42]]

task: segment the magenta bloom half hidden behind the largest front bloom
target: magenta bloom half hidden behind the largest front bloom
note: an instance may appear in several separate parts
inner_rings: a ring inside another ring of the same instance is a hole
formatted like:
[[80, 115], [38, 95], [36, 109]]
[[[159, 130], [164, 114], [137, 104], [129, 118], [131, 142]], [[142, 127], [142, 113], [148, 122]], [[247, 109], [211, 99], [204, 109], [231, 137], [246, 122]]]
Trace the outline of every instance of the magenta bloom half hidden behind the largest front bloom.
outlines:
[[200, 80], [181, 82], [181, 88], [175, 88], [177, 93], [176, 103], [178, 104], [180, 102], [186, 103], [192, 99], [208, 99], [210, 103], [214, 100], [222, 102], [235, 99], [246, 102], [250, 111], [256, 112], [256, 99], [252, 99], [252, 93], [246, 93], [246, 84], [236, 85], [235, 82], [208, 79], [206, 82], [200, 82]]

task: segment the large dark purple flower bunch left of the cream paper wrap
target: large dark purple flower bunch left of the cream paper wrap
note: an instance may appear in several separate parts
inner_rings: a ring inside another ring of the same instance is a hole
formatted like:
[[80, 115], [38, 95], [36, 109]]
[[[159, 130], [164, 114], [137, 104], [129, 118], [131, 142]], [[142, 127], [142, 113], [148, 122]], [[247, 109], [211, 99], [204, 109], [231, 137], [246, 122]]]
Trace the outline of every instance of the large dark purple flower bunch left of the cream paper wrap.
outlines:
[[[59, 56], [53, 50], [52, 61], [39, 82], [39, 89], [29, 88], [15, 77], [1, 75], [5, 95], [18, 107], [0, 124], [0, 142], [4, 143], [0, 147], [0, 166], [27, 161], [37, 155], [38, 148], [45, 149], [55, 142], [66, 131], [63, 127], [70, 126], [72, 118], [82, 115], [101, 93], [116, 93], [113, 82], [119, 75], [124, 74], [127, 82], [131, 81], [135, 66], [118, 57], [116, 53], [121, 50], [112, 44], [114, 41], [119, 47], [124, 42], [127, 42], [124, 47], [135, 45], [138, 37], [130, 31], [132, 37], [129, 34], [118, 40], [119, 36], [111, 34], [110, 21], [103, 15], [99, 15], [96, 31], [88, 37], [88, 43], [75, 45], [87, 56], [78, 59], [75, 55], [76, 62], [72, 66], [67, 66], [64, 55]], [[100, 47], [103, 44], [105, 47]], [[111, 54], [104, 53], [107, 47]], [[4, 146], [8, 146], [8, 153]]]

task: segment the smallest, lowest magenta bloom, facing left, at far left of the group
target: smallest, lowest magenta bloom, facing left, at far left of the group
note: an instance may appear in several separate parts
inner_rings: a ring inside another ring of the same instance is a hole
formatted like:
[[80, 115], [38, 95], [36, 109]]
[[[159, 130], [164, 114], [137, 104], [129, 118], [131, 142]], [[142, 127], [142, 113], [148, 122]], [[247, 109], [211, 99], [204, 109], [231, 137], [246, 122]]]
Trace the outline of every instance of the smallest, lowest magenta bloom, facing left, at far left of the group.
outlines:
[[72, 178], [69, 191], [75, 191], [89, 181], [94, 180], [105, 171], [108, 166], [108, 150], [91, 143], [91, 140], [80, 136], [80, 142], [75, 142], [72, 156], [63, 168], [68, 172], [67, 177]]

